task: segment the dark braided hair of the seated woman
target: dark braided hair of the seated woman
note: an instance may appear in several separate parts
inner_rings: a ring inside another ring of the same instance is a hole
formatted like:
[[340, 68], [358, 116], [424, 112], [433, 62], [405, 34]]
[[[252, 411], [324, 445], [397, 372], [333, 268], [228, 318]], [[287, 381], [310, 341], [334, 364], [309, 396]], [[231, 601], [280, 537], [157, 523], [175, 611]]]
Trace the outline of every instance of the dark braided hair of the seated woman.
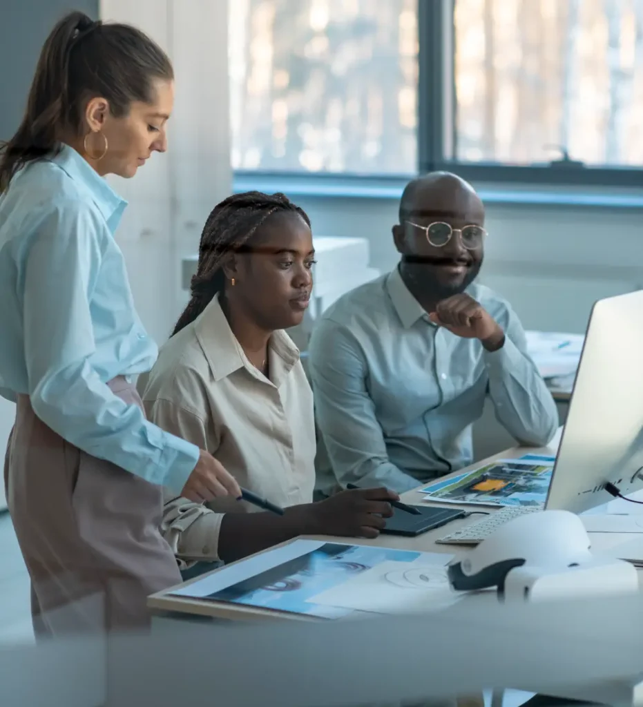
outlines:
[[226, 256], [244, 250], [257, 228], [277, 211], [299, 214], [311, 225], [306, 212], [281, 193], [233, 194], [212, 209], [201, 234], [199, 267], [190, 284], [192, 298], [176, 322], [172, 336], [194, 322], [212, 298], [223, 291], [226, 276], [222, 266]]

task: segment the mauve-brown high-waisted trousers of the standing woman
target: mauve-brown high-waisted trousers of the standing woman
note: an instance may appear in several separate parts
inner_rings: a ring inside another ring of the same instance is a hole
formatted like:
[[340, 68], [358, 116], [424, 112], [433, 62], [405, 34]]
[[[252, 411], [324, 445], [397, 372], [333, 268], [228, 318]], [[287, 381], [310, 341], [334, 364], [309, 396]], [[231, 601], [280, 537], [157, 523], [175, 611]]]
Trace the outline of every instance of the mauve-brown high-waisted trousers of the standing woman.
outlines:
[[[134, 385], [124, 378], [109, 385], [142, 409]], [[18, 399], [4, 482], [36, 636], [146, 629], [146, 597], [181, 581], [158, 532], [161, 488], [66, 442], [26, 396]]]

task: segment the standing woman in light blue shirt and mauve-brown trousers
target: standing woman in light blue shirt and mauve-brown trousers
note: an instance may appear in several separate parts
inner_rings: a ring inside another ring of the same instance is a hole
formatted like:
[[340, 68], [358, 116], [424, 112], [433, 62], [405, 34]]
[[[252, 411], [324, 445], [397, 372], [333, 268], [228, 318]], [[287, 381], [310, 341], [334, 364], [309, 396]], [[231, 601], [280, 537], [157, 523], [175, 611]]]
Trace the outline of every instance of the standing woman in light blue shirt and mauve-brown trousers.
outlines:
[[147, 595], [180, 581], [161, 486], [241, 495], [211, 455], [146, 421], [133, 382], [157, 352], [114, 240], [126, 204], [103, 177], [166, 151], [172, 107], [149, 37], [71, 13], [0, 152], [0, 392], [17, 404], [4, 477], [37, 634], [146, 625]]

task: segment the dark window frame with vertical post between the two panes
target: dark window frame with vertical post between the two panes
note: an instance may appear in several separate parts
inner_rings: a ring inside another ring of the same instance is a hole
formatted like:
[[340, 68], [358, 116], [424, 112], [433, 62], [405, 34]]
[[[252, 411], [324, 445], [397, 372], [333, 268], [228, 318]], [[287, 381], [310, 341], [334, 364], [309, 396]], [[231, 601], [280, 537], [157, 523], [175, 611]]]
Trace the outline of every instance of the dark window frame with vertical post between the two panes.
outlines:
[[[250, 183], [256, 178], [260, 182], [289, 182], [307, 180], [317, 185], [326, 185], [323, 192], [333, 191], [333, 183], [340, 185], [400, 184], [417, 174], [436, 170], [453, 172], [474, 184], [492, 184], [515, 187], [607, 187], [626, 189], [643, 187], [643, 165], [635, 168], [593, 167], [566, 164], [564, 160], [553, 160], [542, 165], [506, 165], [502, 163], [465, 163], [450, 159], [456, 153], [456, 86], [453, 13], [456, 0], [417, 0], [418, 25], [418, 94], [417, 94], [417, 172], [394, 173], [328, 173], [306, 170], [234, 170], [235, 181]], [[450, 93], [450, 95], [449, 95]], [[451, 124], [451, 130], [448, 125]], [[353, 190], [349, 189], [349, 190]], [[357, 187], [359, 190], [359, 187]], [[315, 187], [311, 187], [313, 193]], [[305, 189], [304, 191], [308, 191]]]

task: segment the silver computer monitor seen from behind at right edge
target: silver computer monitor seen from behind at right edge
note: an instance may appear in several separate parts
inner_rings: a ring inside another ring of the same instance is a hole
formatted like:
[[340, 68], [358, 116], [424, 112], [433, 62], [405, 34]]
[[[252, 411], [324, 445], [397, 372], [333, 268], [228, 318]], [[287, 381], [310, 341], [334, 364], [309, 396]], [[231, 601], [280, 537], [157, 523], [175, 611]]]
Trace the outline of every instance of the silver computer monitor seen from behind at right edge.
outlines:
[[581, 513], [643, 489], [643, 291], [593, 306], [545, 508]]

